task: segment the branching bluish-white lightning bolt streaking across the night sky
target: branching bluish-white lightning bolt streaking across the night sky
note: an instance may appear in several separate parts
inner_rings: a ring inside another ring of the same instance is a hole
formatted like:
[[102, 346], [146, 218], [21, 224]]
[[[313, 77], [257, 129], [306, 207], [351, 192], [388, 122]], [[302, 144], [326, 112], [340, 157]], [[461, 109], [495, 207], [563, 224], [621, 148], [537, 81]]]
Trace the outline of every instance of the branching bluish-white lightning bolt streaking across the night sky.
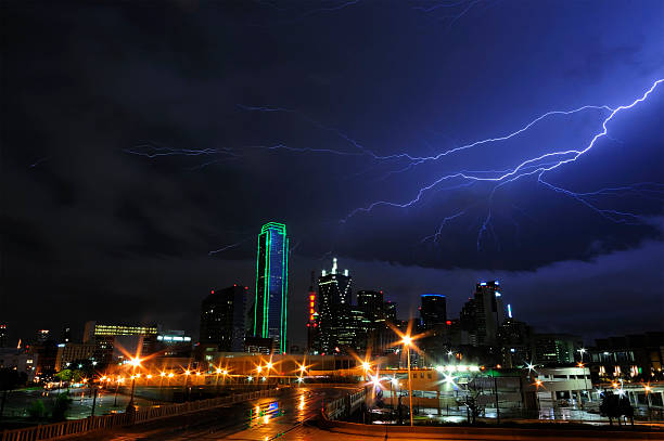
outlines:
[[[431, 7], [431, 8], [443, 8], [443, 5]], [[426, 11], [424, 11], [426, 12]], [[248, 106], [248, 105], [238, 105], [238, 107], [244, 112], [256, 112], [256, 113], [265, 113], [265, 114], [277, 114], [284, 113], [295, 115], [307, 124], [323, 130], [325, 132], [332, 133], [334, 137], [343, 140], [348, 144], [347, 150], [337, 150], [337, 148], [312, 148], [312, 147], [301, 147], [301, 146], [289, 146], [285, 143], [276, 143], [271, 146], [244, 146], [237, 148], [204, 148], [204, 150], [176, 150], [176, 148], [167, 148], [167, 147], [155, 147], [151, 144], [143, 144], [136, 146], [133, 148], [126, 150], [125, 152], [128, 154], [140, 155], [148, 158], [157, 158], [161, 156], [214, 156], [215, 159], [208, 161], [206, 164], [212, 164], [218, 161], [221, 158], [241, 158], [248, 150], [264, 150], [266, 152], [291, 152], [291, 153], [310, 153], [310, 154], [330, 154], [330, 155], [339, 155], [339, 156], [353, 156], [353, 157], [361, 157], [365, 156], [372, 160], [374, 165], [383, 165], [388, 167], [394, 167], [392, 171], [388, 171], [387, 174], [383, 179], [387, 179], [394, 177], [399, 173], [408, 173], [414, 171], [418, 167], [430, 164], [437, 165], [443, 161], [446, 157], [451, 155], [457, 155], [465, 151], [477, 150], [477, 148], [486, 148], [490, 145], [507, 142], [514, 138], [518, 138], [528, 130], [533, 129], [536, 125], [544, 121], [545, 119], [553, 118], [553, 117], [566, 117], [580, 113], [599, 113], [601, 119], [601, 128], [598, 129], [595, 134], [591, 135], [589, 141], [578, 147], [570, 147], [564, 150], [554, 150], [545, 152], [538, 155], [533, 155], [531, 157], [525, 156], [520, 160], [514, 161], [513, 165], [503, 167], [501, 169], [476, 169], [476, 170], [467, 170], [461, 169], [457, 171], [451, 171], [446, 174], [442, 174], [430, 181], [429, 183], [422, 184], [418, 190], [416, 190], [414, 195], [412, 197], [407, 198], [406, 200], [395, 202], [390, 199], [379, 199], [371, 202], [362, 207], [357, 207], [352, 209], [345, 217], [341, 219], [342, 223], [348, 222], [352, 218], [359, 213], [369, 213], [376, 207], [392, 207], [399, 209], [410, 208], [418, 203], [422, 202], [424, 196], [438, 191], [455, 191], [458, 189], [463, 189], [471, 186], [473, 184], [486, 183], [490, 185], [490, 192], [487, 198], [487, 211], [486, 216], [484, 216], [484, 220], [481, 220], [480, 228], [477, 231], [476, 246], [477, 249], [481, 248], [483, 237], [485, 235], [490, 235], [494, 237], [496, 243], [498, 243], [498, 237], [496, 232], [494, 231], [493, 220], [494, 212], [491, 209], [491, 204], [494, 200], [494, 196], [497, 191], [499, 191], [502, 186], [513, 183], [522, 178], [534, 177], [536, 178], [539, 185], [544, 189], [551, 190], [558, 194], [567, 196], [578, 202], [583, 206], [593, 210], [602, 218], [622, 224], [640, 224], [643, 223], [644, 218], [637, 212], [629, 212], [626, 210], [615, 210], [610, 208], [604, 208], [597, 200], [598, 197], [614, 197], [621, 195], [639, 195], [641, 197], [653, 198], [656, 200], [662, 200], [664, 198], [664, 184], [655, 183], [655, 182], [642, 182], [630, 185], [621, 185], [613, 187], [600, 189], [593, 192], [574, 192], [562, 186], [556, 185], [546, 179], [547, 172], [559, 169], [565, 165], [570, 165], [575, 163], [577, 159], [586, 155], [590, 152], [603, 138], [612, 139], [609, 135], [609, 125], [610, 122], [618, 115], [620, 113], [627, 112], [640, 103], [643, 103], [648, 100], [648, 98], [657, 89], [657, 87], [664, 82], [664, 79], [657, 79], [638, 98], [631, 101], [628, 104], [624, 104], [617, 107], [609, 106], [609, 105], [584, 105], [577, 108], [567, 109], [567, 111], [550, 111], [546, 112], [536, 118], [532, 119], [524, 126], [518, 128], [516, 130], [502, 133], [497, 137], [486, 138], [477, 141], [473, 141], [460, 146], [455, 146], [452, 148], [444, 150], [437, 154], [429, 155], [429, 156], [420, 156], [413, 155], [411, 153], [401, 152], [395, 154], [379, 154], [376, 151], [367, 148], [360, 142], [353, 139], [347, 133], [341, 131], [340, 129], [323, 125], [318, 120], [310, 118], [309, 116], [301, 113], [299, 111], [290, 109], [285, 107], [272, 107], [272, 106]], [[204, 165], [203, 165], [204, 166]], [[373, 166], [372, 166], [373, 167]], [[444, 185], [447, 183], [448, 185]], [[439, 223], [433, 234], [422, 238], [420, 243], [425, 243], [430, 239], [435, 244], [439, 241], [445, 226], [450, 222], [461, 218], [462, 216], [469, 215], [469, 208], [465, 207], [463, 209], [459, 209], [457, 212], [445, 217]], [[220, 248], [218, 252], [229, 247], [237, 246], [238, 244], [232, 244], [227, 247]]]

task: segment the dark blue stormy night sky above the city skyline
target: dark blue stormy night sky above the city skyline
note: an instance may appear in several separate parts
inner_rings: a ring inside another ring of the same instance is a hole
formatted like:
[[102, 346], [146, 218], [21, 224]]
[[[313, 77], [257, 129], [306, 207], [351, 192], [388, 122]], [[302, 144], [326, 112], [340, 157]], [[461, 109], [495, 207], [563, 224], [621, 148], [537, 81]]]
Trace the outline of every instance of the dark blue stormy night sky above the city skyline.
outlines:
[[497, 277], [540, 330], [663, 329], [661, 1], [2, 10], [12, 337], [195, 335], [210, 287], [255, 284], [268, 221], [291, 236], [294, 343], [332, 256], [403, 319], [432, 291], [457, 316]]

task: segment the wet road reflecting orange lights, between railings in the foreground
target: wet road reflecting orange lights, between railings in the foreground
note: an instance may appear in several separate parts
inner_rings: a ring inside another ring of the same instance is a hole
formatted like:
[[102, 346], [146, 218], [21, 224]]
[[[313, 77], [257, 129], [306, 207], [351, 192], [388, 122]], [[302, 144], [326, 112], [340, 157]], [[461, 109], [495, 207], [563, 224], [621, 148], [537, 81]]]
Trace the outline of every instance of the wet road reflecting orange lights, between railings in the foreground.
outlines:
[[320, 414], [323, 400], [333, 400], [353, 389], [298, 388], [284, 392], [280, 398], [265, 398], [218, 407], [207, 412], [156, 420], [143, 425], [117, 429], [114, 432], [94, 432], [75, 437], [82, 440], [316, 440], [321, 431], [303, 423]]

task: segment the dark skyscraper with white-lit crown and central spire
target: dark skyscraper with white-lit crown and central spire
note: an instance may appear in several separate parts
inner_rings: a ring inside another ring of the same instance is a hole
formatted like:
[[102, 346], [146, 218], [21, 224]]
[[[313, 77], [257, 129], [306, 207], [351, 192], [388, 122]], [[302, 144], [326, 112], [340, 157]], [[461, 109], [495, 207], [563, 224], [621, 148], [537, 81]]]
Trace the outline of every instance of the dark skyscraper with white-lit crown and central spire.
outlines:
[[[339, 347], [337, 332], [340, 327], [345, 327], [345, 323], [341, 323], [339, 315], [343, 317], [352, 316], [352, 290], [350, 283], [353, 278], [348, 274], [348, 270], [343, 273], [339, 272], [336, 258], [332, 259], [332, 270], [328, 273], [322, 271], [318, 277], [318, 307], [319, 307], [319, 327], [320, 327], [320, 352], [334, 353], [334, 349]], [[347, 308], [345, 308], [347, 307]]]

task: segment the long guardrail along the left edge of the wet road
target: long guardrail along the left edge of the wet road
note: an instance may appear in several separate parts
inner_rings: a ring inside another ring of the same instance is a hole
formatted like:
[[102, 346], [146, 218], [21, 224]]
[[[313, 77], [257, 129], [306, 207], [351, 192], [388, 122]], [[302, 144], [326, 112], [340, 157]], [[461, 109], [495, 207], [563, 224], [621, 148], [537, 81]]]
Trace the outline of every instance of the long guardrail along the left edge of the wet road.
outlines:
[[257, 398], [274, 397], [281, 393], [283, 389], [284, 388], [237, 393], [229, 397], [212, 398], [208, 400], [139, 408], [138, 411], [130, 413], [91, 416], [85, 419], [73, 419], [62, 423], [26, 427], [23, 429], [4, 430], [2, 433], [0, 433], [0, 441], [52, 440], [72, 434], [82, 434], [94, 430], [112, 429], [132, 424], [148, 423], [155, 419], [184, 415], [191, 412], [205, 411], [225, 404], [233, 404]]

